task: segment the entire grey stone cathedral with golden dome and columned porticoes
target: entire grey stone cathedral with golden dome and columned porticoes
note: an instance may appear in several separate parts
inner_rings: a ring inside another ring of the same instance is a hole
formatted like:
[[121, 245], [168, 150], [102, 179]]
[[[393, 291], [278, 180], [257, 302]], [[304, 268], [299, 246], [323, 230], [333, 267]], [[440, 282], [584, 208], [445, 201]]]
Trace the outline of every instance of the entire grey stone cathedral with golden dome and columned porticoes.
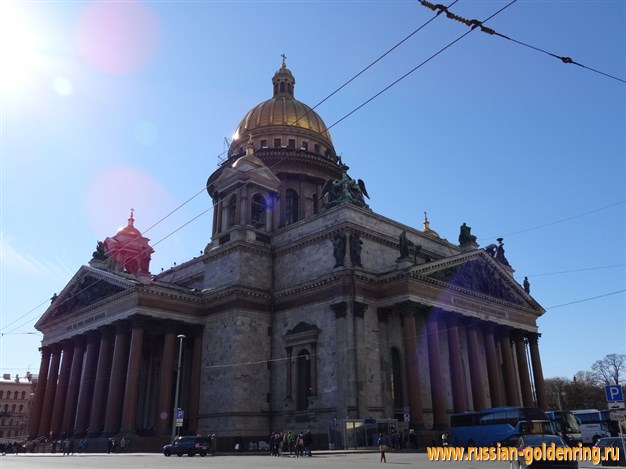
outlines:
[[426, 217], [373, 212], [295, 85], [283, 59], [208, 177], [202, 255], [152, 274], [131, 211], [53, 296], [30, 438], [158, 450], [216, 434], [229, 450], [308, 429], [341, 448], [381, 422], [430, 442], [452, 413], [545, 408], [545, 311], [502, 239], [481, 248], [463, 223], [456, 244]]

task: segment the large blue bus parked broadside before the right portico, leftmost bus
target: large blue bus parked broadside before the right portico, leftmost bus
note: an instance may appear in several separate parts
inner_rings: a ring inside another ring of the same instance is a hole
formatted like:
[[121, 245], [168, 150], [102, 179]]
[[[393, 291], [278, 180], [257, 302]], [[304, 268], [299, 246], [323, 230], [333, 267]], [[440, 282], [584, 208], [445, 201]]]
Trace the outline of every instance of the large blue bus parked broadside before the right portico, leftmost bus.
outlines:
[[[494, 407], [450, 417], [450, 444], [453, 446], [490, 446], [529, 433], [552, 435], [546, 413], [536, 407]], [[508, 440], [508, 441], [507, 441]]]

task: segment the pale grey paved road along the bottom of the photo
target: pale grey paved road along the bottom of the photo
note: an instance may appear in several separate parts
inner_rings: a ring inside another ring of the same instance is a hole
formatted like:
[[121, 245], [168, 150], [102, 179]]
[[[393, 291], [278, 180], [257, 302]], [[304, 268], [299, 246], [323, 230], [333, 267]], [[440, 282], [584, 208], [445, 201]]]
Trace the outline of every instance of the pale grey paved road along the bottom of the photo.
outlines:
[[[166, 458], [161, 454], [131, 453], [131, 454], [75, 454], [63, 456], [60, 454], [20, 454], [6, 455], [0, 458], [2, 469], [138, 469], [138, 468], [179, 468], [203, 469], [369, 469], [387, 467], [403, 467], [417, 469], [510, 469], [508, 462], [433, 462], [428, 461], [423, 453], [387, 453], [387, 464], [380, 462], [378, 453], [324, 453], [313, 455], [312, 458], [290, 458], [281, 456], [275, 458], [263, 456], [234, 456], [218, 455], [200, 457], [188, 456]], [[580, 468], [596, 468], [591, 463], [582, 463]]]

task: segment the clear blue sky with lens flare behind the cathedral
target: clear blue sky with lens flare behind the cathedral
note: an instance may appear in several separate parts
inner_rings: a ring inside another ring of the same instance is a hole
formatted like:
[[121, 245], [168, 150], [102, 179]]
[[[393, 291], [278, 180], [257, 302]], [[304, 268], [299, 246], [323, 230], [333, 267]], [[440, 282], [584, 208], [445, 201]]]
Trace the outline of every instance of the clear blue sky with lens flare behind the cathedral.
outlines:
[[[37, 373], [34, 323], [131, 207], [153, 273], [204, 249], [207, 177], [281, 54], [314, 106], [433, 16], [416, 0], [3, 2], [1, 372]], [[469, 30], [440, 15], [316, 108], [374, 211], [504, 237], [547, 310], [546, 377], [626, 353], [625, 22], [623, 1], [519, 0], [486, 25], [588, 68], [475, 30], [333, 126]]]

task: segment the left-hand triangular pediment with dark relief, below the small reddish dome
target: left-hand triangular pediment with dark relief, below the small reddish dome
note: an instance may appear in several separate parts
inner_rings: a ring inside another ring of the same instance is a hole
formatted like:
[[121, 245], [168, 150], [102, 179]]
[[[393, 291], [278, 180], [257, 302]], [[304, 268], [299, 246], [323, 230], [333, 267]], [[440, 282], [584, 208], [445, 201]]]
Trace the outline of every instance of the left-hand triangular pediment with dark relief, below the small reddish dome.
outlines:
[[133, 288], [136, 281], [113, 272], [89, 266], [81, 267], [61, 293], [51, 299], [50, 306], [35, 324], [44, 324], [95, 305], [111, 296]]

